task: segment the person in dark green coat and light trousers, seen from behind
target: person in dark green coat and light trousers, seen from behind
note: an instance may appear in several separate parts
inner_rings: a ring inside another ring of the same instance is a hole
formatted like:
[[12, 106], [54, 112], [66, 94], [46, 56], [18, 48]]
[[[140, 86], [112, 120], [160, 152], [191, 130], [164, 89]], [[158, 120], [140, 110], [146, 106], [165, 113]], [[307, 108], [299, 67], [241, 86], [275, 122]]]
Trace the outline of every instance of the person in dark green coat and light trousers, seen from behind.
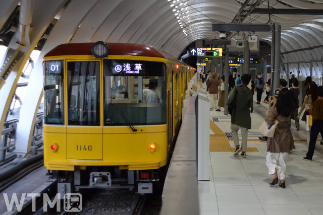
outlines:
[[[247, 142], [248, 142], [248, 129], [251, 128], [251, 117], [250, 108], [253, 105], [253, 95], [251, 90], [248, 88], [250, 82], [250, 75], [244, 74], [241, 77], [241, 85], [236, 85], [229, 94], [229, 99], [227, 105], [236, 99], [236, 107], [233, 110], [231, 116], [231, 133], [234, 145], [236, 146], [236, 151], [234, 155], [239, 155], [243, 158], [246, 157]], [[241, 128], [241, 148], [239, 144], [238, 130]]]

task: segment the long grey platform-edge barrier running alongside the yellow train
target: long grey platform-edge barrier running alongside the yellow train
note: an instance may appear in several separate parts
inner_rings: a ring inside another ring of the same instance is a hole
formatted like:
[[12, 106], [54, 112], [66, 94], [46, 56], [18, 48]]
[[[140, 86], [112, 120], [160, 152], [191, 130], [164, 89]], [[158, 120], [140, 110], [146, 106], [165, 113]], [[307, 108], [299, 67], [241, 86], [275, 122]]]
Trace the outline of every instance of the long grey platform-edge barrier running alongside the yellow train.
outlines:
[[176, 141], [163, 191], [160, 215], [198, 215], [197, 93], [190, 98]]

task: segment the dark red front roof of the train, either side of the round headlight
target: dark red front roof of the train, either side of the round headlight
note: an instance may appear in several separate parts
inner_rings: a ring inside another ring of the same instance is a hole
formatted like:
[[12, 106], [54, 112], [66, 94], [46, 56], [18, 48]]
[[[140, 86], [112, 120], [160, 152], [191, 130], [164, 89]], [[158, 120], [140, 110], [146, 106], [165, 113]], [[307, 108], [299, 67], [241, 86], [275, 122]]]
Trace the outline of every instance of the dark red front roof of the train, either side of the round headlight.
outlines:
[[[91, 55], [93, 43], [65, 43], [53, 48], [44, 57], [62, 55]], [[150, 45], [131, 43], [108, 43], [109, 55], [128, 55], [165, 58], [157, 49]]]

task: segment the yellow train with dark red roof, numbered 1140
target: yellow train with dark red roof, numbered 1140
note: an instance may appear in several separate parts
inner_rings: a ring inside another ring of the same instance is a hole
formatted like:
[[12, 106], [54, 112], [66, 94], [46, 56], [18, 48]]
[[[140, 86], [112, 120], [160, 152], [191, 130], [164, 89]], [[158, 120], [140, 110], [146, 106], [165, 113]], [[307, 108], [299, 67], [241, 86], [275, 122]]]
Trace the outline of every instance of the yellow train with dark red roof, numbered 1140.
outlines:
[[195, 68], [149, 45], [69, 43], [44, 70], [44, 166], [61, 186], [152, 192]]

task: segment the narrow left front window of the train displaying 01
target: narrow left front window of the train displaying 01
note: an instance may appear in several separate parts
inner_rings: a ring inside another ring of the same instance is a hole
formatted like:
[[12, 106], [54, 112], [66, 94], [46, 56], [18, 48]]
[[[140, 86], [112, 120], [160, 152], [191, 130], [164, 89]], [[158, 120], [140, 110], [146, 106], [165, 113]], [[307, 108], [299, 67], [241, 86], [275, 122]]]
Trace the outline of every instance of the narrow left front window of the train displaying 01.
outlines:
[[64, 61], [46, 61], [44, 69], [44, 123], [64, 124]]

